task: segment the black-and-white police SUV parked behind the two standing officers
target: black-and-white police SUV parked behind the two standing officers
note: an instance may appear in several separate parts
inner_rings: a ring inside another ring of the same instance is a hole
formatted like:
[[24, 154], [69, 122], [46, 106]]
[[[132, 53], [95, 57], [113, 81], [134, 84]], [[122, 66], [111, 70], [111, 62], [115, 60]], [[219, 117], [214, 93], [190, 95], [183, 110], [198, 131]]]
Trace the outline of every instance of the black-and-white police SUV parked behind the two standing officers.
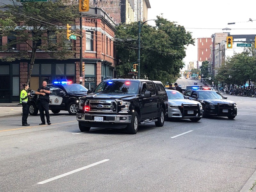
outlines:
[[[50, 88], [49, 110], [52, 113], [59, 113], [61, 110], [68, 111], [70, 115], [76, 115], [78, 109], [79, 97], [87, 95], [88, 89], [81, 84], [73, 84], [71, 82], [62, 81], [47, 84]], [[38, 114], [37, 95], [30, 92], [32, 99], [29, 104], [29, 114]]]

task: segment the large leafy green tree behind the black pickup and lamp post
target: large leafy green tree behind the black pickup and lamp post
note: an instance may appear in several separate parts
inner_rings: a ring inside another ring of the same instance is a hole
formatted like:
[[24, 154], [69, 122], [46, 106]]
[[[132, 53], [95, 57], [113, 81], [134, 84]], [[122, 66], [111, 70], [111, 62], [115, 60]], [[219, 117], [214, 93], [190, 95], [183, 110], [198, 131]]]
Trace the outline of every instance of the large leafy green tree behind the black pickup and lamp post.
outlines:
[[[125, 77], [138, 58], [138, 23], [120, 24], [116, 29], [117, 74]], [[185, 65], [185, 45], [194, 43], [183, 26], [157, 16], [156, 27], [141, 27], [140, 76], [163, 83], [176, 81]]]

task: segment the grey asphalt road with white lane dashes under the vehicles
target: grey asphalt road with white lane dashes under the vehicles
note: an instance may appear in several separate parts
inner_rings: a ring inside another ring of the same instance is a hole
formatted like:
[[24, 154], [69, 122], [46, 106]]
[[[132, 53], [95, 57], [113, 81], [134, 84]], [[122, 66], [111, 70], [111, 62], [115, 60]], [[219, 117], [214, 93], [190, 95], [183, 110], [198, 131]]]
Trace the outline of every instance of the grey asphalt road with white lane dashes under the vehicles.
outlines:
[[50, 116], [52, 125], [1, 118], [0, 190], [239, 192], [256, 180], [256, 98], [226, 96], [237, 102], [234, 120], [168, 120], [136, 135], [81, 133], [64, 111]]

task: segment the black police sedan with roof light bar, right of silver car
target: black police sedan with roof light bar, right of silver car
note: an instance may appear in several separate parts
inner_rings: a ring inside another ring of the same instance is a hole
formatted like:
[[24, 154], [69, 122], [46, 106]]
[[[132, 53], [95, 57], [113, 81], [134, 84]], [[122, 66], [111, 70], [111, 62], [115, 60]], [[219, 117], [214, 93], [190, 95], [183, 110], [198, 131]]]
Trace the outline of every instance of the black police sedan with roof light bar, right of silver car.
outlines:
[[224, 116], [234, 119], [237, 115], [237, 106], [234, 101], [227, 100], [219, 92], [202, 90], [194, 87], [184, 93], [191, 100], [199, 101], [203, 106], [203, 117]]

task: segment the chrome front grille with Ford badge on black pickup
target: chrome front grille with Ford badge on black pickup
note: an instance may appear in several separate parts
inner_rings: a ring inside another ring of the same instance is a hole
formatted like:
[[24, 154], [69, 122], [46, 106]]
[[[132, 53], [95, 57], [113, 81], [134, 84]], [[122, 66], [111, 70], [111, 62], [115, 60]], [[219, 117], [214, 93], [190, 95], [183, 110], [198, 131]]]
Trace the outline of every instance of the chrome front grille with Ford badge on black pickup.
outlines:
[[88, 112], [116, 113], [117, 103], [113, 100], [87, 100]]

